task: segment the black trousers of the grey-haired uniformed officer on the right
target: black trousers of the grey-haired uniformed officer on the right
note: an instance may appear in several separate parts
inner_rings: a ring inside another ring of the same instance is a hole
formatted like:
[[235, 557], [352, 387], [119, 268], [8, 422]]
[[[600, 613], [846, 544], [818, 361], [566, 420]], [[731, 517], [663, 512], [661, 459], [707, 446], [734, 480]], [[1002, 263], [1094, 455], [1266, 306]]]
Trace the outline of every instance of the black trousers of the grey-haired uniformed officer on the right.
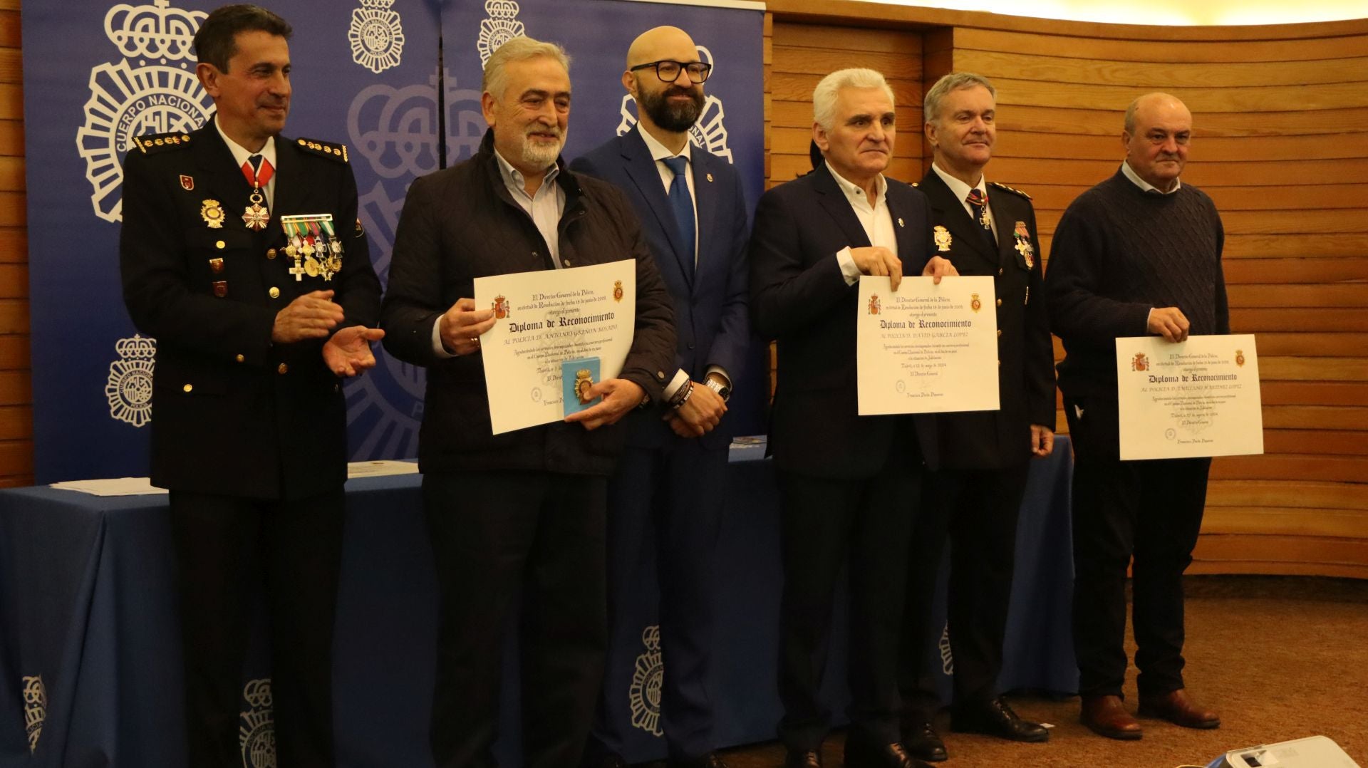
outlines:
[[1012, 596], [1016, 519], [1030, 464], [1007, 470], [940, 470], [926, 476], [907, 565], [899, 687], [903, 720], [930, 721], [940, 708], [936, 668], [926, 667], [941, 628], [932, 626], [936, 576], [949, 545], [947, 619], [955, 704], [997, 695]]

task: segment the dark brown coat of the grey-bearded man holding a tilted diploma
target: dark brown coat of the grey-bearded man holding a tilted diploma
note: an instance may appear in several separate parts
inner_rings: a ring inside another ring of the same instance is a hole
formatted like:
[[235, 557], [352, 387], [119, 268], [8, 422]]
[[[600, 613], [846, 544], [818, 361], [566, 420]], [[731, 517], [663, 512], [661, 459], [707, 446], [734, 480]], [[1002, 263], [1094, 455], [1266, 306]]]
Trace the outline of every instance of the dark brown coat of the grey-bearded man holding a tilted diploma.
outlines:
[[[673, 311], [632, 204], [616, 186], [564, 167], [554, 183], [565, 192], [557, 227], [564, 267], [636, 259], [635, 337], [618, 376], [658, 402], [674, 372]], [[613, 471], [622, 446], [620, 426], [591, 431], [553, 423], [491, 434], [482, 355], [439, 357], [432, 349], [432, 324], [457, 300], [475, 296], [475, 278], [551, 268], [540, 231], [503, 183], [492, 131], [473, 157], [409, 188], [380, 326], [391, 355], [428, 368], [421, 471]]]

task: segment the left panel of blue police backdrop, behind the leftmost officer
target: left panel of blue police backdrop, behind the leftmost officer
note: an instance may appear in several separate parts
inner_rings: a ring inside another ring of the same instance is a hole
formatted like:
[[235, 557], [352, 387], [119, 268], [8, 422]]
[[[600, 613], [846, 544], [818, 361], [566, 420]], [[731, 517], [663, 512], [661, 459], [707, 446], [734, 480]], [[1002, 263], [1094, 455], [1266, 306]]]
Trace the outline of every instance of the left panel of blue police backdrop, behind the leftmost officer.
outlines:
[[[146, 475], [155, 340], [119, 289], [122, 160], [133, 137], [213, 110], [194, 31], [219, 3], [25, 7], [25, 138], [37, 482]], [[347, 144], [382, 281], [409, 182], [438, 168], [438, 8], [428, 0], [275, 0], [294, 26], [286, 136]], [[413, 456], [423, 379], [383, 359], [349, 382], [352, 455]]]

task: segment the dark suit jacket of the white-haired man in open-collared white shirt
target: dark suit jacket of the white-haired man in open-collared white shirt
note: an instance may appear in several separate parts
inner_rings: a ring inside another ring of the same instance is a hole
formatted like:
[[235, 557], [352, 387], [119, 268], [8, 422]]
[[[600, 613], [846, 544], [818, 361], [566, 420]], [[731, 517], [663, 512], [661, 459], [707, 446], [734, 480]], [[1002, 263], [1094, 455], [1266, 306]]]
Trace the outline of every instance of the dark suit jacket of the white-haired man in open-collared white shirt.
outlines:
[[[934, 253], [930, 204], [888, 178], [888, 209], [904, 275]], [[860, 416], [855, 371], [859, 283], [836, 253], [869, 235], [825, 164], [761, 196], [751, 233], [751, 320], [778, 342], [770, 450], [780, 470], [822, 478], [871, 476], [902, 416]], [[922, 460], [937, 467], [936, 419], [912, 416]]]

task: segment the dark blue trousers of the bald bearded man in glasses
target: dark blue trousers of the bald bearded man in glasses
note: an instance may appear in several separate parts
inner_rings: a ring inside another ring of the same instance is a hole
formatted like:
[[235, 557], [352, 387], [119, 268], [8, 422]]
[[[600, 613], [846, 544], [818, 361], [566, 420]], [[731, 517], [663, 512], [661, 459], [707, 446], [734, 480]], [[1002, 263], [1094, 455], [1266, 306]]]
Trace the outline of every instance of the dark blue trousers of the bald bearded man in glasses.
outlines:
[[[629, 448], [609, 483], [609, 683], [631, 680], [633, 660], [646, 650], [640, 624], [622, 612], [648, 576], [655, 556], [659, 585], [659, 641], [665, 664], [661, 726], [673, 760], [714, 749], [710, 660], [715, 615], [717, 538], [722, 528], [722, 478], [726, 448], [706, 449], [696, 439], [665, 448]], [[628, 684], [599, 698], [594, 752], [622, 753], [629, 723]]]

